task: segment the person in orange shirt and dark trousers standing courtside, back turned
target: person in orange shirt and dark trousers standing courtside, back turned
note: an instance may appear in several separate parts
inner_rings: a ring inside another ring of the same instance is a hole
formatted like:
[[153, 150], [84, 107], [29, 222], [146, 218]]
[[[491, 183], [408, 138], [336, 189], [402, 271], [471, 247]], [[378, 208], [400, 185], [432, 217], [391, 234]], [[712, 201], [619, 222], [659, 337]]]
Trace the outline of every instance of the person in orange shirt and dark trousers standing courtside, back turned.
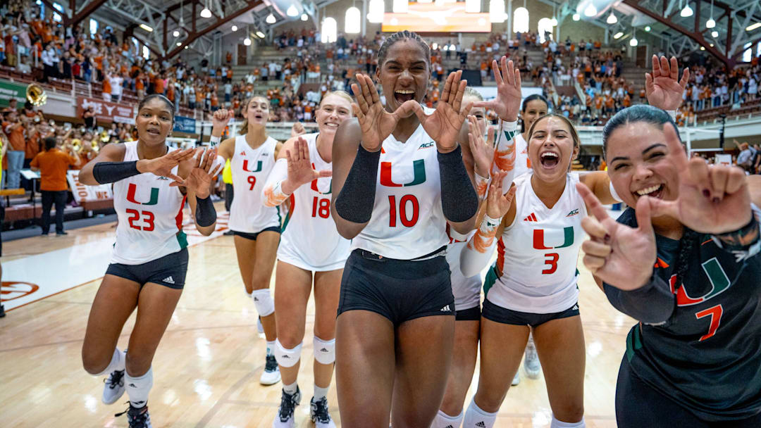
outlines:
[[37, 154], [32, 160], [32, 170], [40, 171], [40, 191], [43, 194], [42, 234], [46, 236], [50, 230], [50, 208], [56, 204], [56, 236], [66, 235], [63, 230], [63, 211], [66, 207], [68, 186], [66, 185], [66, 170], [68, 166], [77, 166], [80, 157], [64, 153], [57, 147], [55, 137], [45, 138], [43, 153]]

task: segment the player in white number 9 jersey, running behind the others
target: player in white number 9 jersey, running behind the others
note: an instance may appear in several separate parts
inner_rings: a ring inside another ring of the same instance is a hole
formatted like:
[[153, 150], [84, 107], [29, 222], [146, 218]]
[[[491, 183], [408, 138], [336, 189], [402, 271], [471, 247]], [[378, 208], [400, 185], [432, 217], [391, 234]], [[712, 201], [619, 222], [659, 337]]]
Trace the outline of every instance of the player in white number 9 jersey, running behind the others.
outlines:
[[[262, 385], [280, 381], [275, 360], [275, 303], [269, 293], [269, 280], [275, 267], [275, 255], [280, 242], [280, 211], [277, 206], [263, 204], [262, 190], [282, 143], [267, 135], [269, 100], [255, 96], [245, 104], [240, 135], [221, 142], [219, 155], [230, 160], [235, 197], [230, 207], [229, 227], [237, 254], [240, 277], [246, 293], [253, 300], [267, 341], [264, 369], [259, 378]], [[212, 144], [218, 143], [232, 110], [214, 112]], [[224, 164], [224, 162], [221, 162]]]

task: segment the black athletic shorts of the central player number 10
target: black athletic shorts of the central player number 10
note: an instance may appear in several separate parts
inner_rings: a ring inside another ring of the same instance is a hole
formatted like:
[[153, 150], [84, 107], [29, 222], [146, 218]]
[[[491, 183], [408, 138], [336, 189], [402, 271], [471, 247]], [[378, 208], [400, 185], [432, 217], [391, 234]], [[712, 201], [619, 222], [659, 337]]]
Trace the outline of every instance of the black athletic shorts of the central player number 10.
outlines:
[[413, 261], [355, 249], [343, 269], [338, 315], [372, 311], [394, 327], [423, 316], [455, 315], [450, 275], [443, 254]]

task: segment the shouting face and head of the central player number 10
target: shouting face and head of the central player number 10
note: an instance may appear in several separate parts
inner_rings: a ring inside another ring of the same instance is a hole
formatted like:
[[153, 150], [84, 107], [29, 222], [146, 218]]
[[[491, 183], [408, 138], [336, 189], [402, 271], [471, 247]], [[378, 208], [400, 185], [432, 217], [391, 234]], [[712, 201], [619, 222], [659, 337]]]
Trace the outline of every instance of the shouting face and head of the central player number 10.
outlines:
[[429, 76], [428, 56], [420, 43], [412, 39], [393, 43], [375, 71], [386, 95], [386, 108], [392, 112], [405, 101], [422, 102]]

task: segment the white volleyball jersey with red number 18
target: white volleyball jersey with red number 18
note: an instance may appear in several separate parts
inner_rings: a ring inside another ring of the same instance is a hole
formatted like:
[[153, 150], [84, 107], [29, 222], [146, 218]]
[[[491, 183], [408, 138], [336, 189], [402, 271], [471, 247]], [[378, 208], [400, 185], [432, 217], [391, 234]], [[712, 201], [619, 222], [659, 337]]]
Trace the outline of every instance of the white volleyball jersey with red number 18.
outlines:
[[[307, 141], [314, 170], [333, 170], [317, 152], [317, 135], [301, 135]], [[331, 177], [301, 185], [291, 195], [288, 224], [280, 239], [278, 259], [307, 271], [342, 269], [349, 258], [350, 241], [339, 235], [330, 215]]]

